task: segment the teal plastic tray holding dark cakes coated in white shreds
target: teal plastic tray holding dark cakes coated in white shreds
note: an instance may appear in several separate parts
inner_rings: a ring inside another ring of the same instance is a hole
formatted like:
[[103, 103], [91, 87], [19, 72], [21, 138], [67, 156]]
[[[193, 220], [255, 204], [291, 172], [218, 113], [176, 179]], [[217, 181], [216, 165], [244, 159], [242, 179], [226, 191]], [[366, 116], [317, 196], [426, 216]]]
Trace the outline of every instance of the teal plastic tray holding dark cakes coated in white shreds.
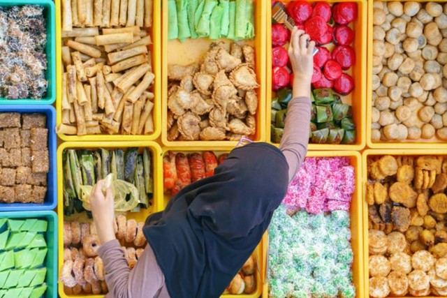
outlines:
[[41, 100], [23, 98], [7, 99], [0, 97], [0, 105], [52, 105], [56, 100], [56, 25], [54, 3], [51, 0], [15, 0], [0, 1], [0, 6], [24, 6], [26, 4], [43, 6], [43, 16], [47, 28], [47, 71], [46, 79], [48, 81], [47, 94]]

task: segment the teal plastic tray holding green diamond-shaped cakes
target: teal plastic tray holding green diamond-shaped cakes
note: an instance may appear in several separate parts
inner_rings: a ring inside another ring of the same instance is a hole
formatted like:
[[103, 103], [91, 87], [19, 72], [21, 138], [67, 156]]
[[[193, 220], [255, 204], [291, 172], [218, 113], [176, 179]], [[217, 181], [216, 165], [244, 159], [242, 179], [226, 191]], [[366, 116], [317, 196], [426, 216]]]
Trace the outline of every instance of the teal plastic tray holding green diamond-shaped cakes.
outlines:
[[38, 218], [45, 219], [48, 222], [47, 232], [45, 233], [48, 248], [47, 258], [45, 258], [47, 290], [43, 297], [57, 298], [57, 214], [54, 211], [0, 212], [0, 218]]

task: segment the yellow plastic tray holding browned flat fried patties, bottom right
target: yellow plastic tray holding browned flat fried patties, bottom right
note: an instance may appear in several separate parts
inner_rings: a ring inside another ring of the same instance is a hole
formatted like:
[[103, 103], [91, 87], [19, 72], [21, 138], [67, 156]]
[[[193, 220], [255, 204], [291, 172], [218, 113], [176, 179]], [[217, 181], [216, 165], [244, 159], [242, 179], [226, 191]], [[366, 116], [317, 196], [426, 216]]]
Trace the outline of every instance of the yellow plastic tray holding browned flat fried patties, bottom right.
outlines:
[[[444, 154], [443, 154], [444, 153]], [[383, 155], [392, 155], [392, 156], [423, 156], [423, 155], [446, 155], [447, 151], [439, 151], [437, 149], [368, 149], [363, 151], [362, 154], [362, 184], [365, 184], [368, 181], [368, 167], [367, 167], [367, 159], [369, 156], [383, 156]], [[364, 265], [363, 265], [363, 276], [365, 281], [363, 281], [365, 285], [365, 296], [369, 297], [369, 245], [368, 245], [368, 204], [365, 201], [366, 197], [366, 188], [362, 188], [362, 218], [363, 218], [363, 255]], [[363, 296], [362, 296], [363, 297]], [[389, 296], [392, 297], [392, 296]], [[411, 295], [406, 295], [404, 298], [413, 297]], [[439, 296], [437, 296], [439, 297]], [[425, 298], [435, 298], [435, 296], [425, 296]]]

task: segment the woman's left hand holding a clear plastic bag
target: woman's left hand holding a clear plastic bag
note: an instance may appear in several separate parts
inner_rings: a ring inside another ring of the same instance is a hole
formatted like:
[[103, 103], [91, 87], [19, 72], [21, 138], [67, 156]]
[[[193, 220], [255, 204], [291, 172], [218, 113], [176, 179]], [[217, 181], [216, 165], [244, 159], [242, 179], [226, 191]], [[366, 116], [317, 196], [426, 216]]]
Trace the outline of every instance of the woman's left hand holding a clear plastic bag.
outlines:
[[91, 213], [93, 214], [96, 232], [98, 233], [101, 244], [116, 239], [115, 232], [113, 231], [115, 209], [112, 188], [107, 188], [104, 195], [103, 184], [104, 180], [98, 181], [93, 187], [90, 195]]

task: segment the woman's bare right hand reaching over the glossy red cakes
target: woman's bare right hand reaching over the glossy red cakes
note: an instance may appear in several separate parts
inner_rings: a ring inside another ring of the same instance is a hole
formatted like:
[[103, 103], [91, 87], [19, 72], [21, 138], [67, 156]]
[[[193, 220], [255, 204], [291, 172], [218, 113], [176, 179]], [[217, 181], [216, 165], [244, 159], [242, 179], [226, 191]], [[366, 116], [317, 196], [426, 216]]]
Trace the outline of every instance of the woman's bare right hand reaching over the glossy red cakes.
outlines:
[[293, 97], [309, 96], [312, 75], [314, 74], [314, 41], [309, 45], [309, 35], [305, 31], [293, 28], [291, 42], [288, 45], [288, 57], [293, 70]]

